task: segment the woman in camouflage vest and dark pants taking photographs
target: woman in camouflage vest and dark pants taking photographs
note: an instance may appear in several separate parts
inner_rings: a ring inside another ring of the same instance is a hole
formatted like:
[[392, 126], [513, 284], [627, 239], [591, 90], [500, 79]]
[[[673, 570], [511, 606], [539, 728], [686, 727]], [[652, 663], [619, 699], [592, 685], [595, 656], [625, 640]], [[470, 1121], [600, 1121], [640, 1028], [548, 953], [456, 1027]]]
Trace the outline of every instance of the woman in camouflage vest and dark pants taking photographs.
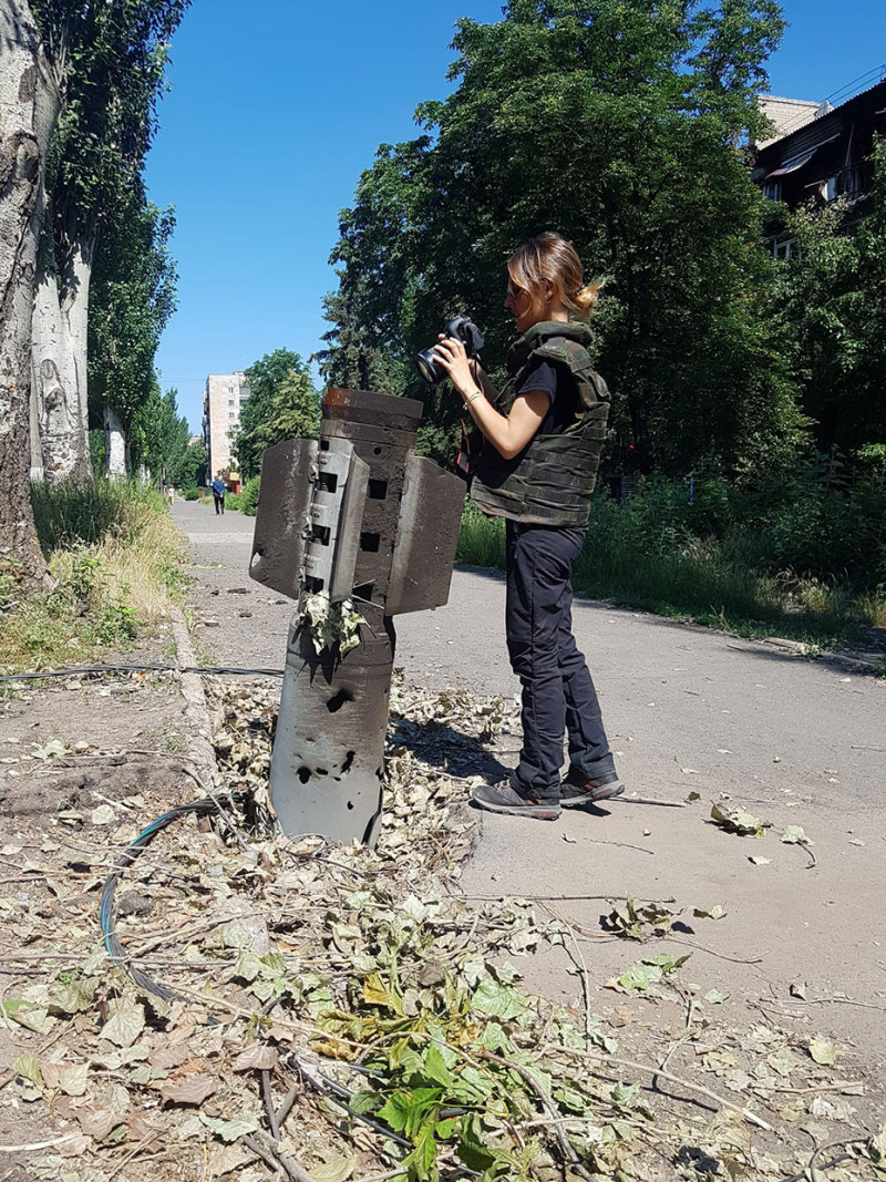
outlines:
[[[499, 394], [464, 345], [435, 346], [483, 449], [471, 496], [507, 519], [506, 634], [522, 683], [523, 745], [509, 777], [474, 800], [493, 812], [554, 820], [561, 806], [618, 795], [600, 706], [572, 635], [572, 565], [587, 531], [610, 394], [587, 326], [599, 284], [584, 285], [572, 243], [540, 234], [508, 262], [504, 306], [520, 333]], [[569, 769], [561, 780], [563, 732]]]

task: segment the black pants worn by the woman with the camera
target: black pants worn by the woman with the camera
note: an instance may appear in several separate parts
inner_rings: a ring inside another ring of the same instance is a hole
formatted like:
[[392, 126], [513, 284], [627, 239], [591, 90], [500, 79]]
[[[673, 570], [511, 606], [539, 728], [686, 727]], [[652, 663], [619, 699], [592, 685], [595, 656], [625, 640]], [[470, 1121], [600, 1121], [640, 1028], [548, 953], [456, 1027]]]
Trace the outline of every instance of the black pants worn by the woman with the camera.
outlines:
[[512, 785], [559, 799], [563, 730], [569, 762], [586, 775], [614, 771], [600, 703], [572, 635], [572, 564], [585, 528], [507, 524], [508, 655], [523, 687], [523, 747]]

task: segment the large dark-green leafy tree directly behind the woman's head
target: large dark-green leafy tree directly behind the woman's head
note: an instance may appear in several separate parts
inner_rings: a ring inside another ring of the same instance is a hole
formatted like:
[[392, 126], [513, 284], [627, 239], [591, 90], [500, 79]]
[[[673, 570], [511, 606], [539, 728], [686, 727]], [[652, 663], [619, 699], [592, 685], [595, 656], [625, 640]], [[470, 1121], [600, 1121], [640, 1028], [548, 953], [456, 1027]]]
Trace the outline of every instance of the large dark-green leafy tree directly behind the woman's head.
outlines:
[[[513, 325], [503, 264], [558, 229], [610, 277], [599, 363], [615, 428], [645, 467], [741, 456], [802, 428], [762, 314], [771, 271], [742, 143], [783, 30], [774, 0], [512, 0], [462, 20], [445, 102], [383, 145], [341, 215], [325, 372], [411, 353], [468, 311], [500, 361]], [[451, 395], [429, 400], [436, 424]]]

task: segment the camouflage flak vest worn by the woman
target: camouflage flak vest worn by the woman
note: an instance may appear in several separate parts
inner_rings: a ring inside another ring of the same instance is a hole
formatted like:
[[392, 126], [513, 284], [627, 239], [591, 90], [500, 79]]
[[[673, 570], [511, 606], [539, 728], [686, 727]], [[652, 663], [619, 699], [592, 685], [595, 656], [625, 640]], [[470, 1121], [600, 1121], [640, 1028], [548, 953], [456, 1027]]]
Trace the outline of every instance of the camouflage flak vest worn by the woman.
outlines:
[[526, 525], [587, 524], [611, 403], [606, 383], [591, 364], [591, 340], [585, 324], [549, 320], [533, 325], [512, 345], [510, 378], [496, 409], [508, 414], [527, 368], [543, 357], [572, 374], [578, 389], [576, 417], [561, 435], [536, 435], [514, 460], [504, 460], [483, 441], [471, 498], [484, 513]]

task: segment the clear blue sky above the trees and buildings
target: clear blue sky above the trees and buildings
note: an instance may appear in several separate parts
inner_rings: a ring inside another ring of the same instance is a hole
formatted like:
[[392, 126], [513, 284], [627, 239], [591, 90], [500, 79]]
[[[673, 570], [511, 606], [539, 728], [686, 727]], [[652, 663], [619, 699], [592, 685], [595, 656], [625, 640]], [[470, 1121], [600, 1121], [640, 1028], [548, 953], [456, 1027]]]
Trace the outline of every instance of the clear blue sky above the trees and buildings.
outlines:
[[[884, 0], [787, 0], [773, 93], [821, 99], [886, 63]], [[379, 143], [448, 91], [452, 25], [500, 0], [194, 0], [146, 168], [175, 206], [178, 311], [157, 355], [163, 389], [200, 430], [207, 374], [320, 345], [339, 209]]]

